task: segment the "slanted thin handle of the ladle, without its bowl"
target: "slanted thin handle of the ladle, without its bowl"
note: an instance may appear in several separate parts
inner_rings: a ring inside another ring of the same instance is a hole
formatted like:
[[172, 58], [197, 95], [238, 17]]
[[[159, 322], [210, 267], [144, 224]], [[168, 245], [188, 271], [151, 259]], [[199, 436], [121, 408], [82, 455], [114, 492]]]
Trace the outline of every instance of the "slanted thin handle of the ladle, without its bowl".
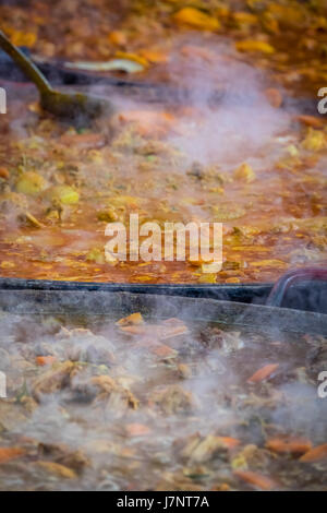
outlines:
[[31, 59], [20, 50], [20, 48], [8, 39], [2, 31], [0, 31], [0, 48], [2, 48], [2, 50], [4, 50], [15, 61], [25, 75], [35, 83], [41, 94], [53, 91], [44, 74], [36, 68]]

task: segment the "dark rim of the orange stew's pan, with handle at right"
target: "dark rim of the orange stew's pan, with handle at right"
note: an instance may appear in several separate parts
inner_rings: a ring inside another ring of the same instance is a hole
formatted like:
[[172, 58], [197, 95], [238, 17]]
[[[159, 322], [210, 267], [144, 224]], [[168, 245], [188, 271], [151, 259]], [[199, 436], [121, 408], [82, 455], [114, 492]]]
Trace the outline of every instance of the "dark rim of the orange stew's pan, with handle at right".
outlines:
[[[156, 296], [217, 299], [252, 305], [268, 305], [327, 313], [327, 271], [304, 269], [284, 274], [274, 284], [241, 285], [140, 285], [119, 283], [82, 283], [44, 279], [0, 278], [1, 294], [5, 291], [41, 293], [131, 293]], [[24, 294], [21, 294], [23, 297]], [[60, 294], [59, 294], [60, 296]], [[10, 297], [10, 295], [9, 295]], [[29, 296], [31, 297], [31, 296]]]

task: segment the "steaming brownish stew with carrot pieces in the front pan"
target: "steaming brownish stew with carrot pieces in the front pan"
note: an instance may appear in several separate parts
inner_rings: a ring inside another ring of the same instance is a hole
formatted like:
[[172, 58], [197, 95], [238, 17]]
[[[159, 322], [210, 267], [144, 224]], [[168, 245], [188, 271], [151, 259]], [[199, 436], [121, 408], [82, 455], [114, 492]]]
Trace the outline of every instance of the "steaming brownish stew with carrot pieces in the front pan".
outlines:
[[140, 312], [0, 322], [0, 489], [326, 491], [326, 338]]

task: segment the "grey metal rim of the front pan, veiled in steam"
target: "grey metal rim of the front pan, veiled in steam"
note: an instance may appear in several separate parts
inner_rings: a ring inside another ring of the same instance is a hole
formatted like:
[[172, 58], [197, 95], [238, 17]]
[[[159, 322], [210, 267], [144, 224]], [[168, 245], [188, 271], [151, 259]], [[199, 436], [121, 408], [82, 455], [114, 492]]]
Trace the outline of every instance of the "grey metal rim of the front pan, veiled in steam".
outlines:
[[327, 335], [327, 315], [286, 308], [106, 290], [0, 289], [0, 309], [14, 314], [106, 315], [119, 319], [140, 311], [146, 317], [218, 322], [264, 331]]

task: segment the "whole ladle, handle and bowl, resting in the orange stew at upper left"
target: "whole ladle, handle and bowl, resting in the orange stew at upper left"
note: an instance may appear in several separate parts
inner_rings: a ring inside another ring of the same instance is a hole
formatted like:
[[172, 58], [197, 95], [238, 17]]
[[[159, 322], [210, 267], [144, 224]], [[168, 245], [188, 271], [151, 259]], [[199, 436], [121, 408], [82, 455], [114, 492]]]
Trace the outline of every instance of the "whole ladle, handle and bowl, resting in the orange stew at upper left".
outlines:
[[61, 93], [53, 90], [34, 62], [13, 45], [2, 31], [0, 31], [0, 48], [34, 82], [40, 95], [41, 107], [53, 116], [69, 120], [74, 126], [85, 127], [104, 114], [113, 114], [112, 104], [105, 98], [77, 92]]

